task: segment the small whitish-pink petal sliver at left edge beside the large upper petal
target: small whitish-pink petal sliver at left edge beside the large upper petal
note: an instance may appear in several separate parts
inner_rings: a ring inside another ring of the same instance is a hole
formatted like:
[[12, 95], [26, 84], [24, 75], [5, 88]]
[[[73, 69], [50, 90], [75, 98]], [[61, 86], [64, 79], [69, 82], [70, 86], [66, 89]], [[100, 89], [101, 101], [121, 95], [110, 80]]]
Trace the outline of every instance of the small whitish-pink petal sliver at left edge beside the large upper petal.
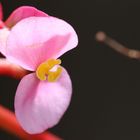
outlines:
[[10, 31], [7, 28], [0, 29], [0, 52], [5, 55], [6, 41]]

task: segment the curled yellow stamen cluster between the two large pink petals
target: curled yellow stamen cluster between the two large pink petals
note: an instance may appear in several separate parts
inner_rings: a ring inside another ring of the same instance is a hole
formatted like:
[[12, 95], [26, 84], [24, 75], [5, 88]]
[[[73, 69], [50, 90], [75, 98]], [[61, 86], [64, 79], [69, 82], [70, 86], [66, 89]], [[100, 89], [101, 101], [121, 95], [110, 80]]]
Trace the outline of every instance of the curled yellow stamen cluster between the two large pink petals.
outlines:
[[41, 63], [36, 70], [37, 78], [43, 81], [46, 80], [46, 76], [48, 76], [49, 82], [56, 81], [62, 72], [62, 68], [57, 67], [55, 71], [52, 71], [52, 68], [60, 64], [60, 59], [49, 59], [48, 61]]

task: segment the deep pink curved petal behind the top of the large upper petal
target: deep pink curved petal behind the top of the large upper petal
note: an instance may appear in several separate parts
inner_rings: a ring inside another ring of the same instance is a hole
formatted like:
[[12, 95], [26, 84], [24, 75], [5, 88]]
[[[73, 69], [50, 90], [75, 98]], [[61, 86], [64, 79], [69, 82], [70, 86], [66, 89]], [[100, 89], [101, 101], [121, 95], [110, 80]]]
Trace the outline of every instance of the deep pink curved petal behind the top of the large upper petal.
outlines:
[[9, 18], [5, 21], [5, 24], [9, 28], [11, 28], [20, 20], [27, 18], [27, 17], [31, 17], [31, 16], [46, 17], [48, 15], [34, 7], [21, 6], [12, 12], [12, 14], [9, 16]]

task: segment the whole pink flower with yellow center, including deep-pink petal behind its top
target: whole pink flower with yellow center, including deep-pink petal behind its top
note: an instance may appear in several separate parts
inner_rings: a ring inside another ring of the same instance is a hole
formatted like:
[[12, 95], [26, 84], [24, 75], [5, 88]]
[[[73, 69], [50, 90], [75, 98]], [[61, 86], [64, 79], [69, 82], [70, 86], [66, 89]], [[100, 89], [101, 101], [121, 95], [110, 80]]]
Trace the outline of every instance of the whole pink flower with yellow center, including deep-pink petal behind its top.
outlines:
[[0, 45], [2, 53], [32, 71], [16, 91], [17, 120], [26, 132], [41, 133], [56, 125], [69, 106], [72, 84], [57, 58], [77, 46], [77, 34], [65, 21], [33, 7], [18, 8], [5, 25], [10, 31]]

